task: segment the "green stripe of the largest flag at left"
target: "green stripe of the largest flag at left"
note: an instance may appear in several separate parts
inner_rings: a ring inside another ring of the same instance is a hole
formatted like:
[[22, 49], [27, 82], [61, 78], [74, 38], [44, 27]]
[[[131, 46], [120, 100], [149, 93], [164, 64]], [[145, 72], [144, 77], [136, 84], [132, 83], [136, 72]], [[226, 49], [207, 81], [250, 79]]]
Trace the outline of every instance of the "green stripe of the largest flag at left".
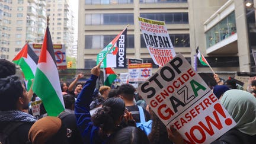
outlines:
[[33, 91], [43, 100], [44, 107], [49, 116], [58, 116], [65, 110], [49, 79], [39, 68], [37, 68], [34, 81]]

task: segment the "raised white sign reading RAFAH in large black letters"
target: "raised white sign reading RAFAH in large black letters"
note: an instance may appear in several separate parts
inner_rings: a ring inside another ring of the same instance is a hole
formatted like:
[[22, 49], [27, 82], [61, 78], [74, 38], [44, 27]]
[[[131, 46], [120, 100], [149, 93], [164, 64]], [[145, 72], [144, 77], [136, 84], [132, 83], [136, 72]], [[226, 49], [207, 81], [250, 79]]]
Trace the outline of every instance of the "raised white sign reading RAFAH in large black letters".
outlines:
[[156, 65], [164, 66], [176, 55], [165, 22], [139, 17], [139, 24], [153, 61]]

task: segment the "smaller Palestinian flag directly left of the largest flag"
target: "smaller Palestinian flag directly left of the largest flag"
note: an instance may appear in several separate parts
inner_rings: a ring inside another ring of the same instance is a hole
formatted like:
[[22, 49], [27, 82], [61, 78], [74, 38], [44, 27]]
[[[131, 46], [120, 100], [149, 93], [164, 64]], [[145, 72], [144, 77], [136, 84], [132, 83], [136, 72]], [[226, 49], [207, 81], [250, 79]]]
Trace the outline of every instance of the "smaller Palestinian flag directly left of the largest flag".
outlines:
[[26, 43], [12, 61], [20, 66], [21, 71], [24, 73], [25, 80], [31, 80], [34, 79], [38, 59], [39, 57], [34, 53], [28, 43]]

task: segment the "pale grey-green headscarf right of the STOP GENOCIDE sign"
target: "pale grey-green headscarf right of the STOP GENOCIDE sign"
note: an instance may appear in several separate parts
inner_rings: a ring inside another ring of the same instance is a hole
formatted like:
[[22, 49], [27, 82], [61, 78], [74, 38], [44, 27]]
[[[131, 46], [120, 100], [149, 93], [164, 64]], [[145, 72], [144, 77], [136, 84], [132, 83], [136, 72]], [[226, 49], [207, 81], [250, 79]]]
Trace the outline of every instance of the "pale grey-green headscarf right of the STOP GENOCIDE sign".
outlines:
[[236, 121], [235, 129], [247, 135], [256, 135], [256, 98], [247, 91], [226, 91], [220, 103]]

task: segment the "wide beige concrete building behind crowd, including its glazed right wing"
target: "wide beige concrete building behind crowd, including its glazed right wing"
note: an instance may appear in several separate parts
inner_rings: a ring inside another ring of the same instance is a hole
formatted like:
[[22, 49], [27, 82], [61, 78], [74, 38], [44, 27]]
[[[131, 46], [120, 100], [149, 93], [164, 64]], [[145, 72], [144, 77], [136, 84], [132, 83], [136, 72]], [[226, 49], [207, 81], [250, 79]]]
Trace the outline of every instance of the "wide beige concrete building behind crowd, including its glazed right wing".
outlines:
[[[252, 0], [251, 0], [252, 1]], [[140, 33], [137, 17], [165, 21], [176, 53], [182, 53], [197, 71], [210, 72], [194, 64], [196, 47], [213, 71], [252, 72], [251, 54], [255, 28], [254, 8], [244, 0], [140, 0], [79, 1], [78, 68], [95, 66], [97, 54], [126, 24], [128, 58], [152, 62]], [[255, 45], [255, 44], [254, 44]], [[198, 61], [198, 60], [197, 60]], [[156, 71], [156, 65], [153, 65]], [[127, 71], [115, 69], [117, 73]], [[255, 72], [255, 71], [254, 71]]]

